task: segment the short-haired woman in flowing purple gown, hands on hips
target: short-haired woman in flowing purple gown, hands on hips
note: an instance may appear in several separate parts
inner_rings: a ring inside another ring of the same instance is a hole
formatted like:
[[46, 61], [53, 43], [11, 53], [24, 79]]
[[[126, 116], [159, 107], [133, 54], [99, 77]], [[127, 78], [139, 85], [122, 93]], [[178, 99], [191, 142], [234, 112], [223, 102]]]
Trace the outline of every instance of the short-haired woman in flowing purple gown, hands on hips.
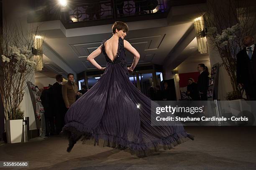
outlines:
[[[97, 69], [105, 70], [97, 83], [69, 108], [62, 133], [69, 139], [67, 152], [82, 138], [94, 145], [125, 149], [136, 154], [156, 151], [161, 147], [171, 149], [184, 139], [194, 139], [175, 124], [151, 126], [151, 107], [155, 102], [139, 91], [129, 80], [128, 73], [136, 67], [140, 55], [125, 41], [128, 26], [115, 22], [113, 36], [87, 58]], [[131, 67], [126, 66], [125, 51], [134, 55]], [[102, 68], [94, 58], [105, 55], [107, 64]]]

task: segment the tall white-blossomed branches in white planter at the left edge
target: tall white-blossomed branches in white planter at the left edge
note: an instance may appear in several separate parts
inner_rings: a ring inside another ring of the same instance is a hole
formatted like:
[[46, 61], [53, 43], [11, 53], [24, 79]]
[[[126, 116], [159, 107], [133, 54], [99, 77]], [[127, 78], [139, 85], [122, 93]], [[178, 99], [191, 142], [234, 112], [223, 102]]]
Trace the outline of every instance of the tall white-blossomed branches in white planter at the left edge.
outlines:
[[3, 36], [0, 37], [0, 67], [4, 76], [0, 96], [8, 143], [14, 143], [21, 142], [24, 112], [20, 110], [20, 104], [27, 87], [26, 81], [32, 79], [38, 65], [38, 55], [32, 53], [38, 28], [25, 30], [21, 26], [8, 25], [6, 20], [4, 25]]

